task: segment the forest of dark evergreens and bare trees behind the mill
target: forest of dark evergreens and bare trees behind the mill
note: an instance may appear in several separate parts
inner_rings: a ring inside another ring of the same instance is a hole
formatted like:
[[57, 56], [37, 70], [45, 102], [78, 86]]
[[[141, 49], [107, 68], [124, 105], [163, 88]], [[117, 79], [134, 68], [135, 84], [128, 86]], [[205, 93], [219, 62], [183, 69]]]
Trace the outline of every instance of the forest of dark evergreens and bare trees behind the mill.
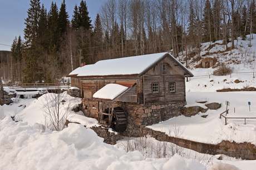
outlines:
[[[68, 19], [65, 0], [50, 10], [31, 0], [24, 39], [11, 47], [12, 81], [55, 82], [81, 63], [101, 59], [197, 49], [222, 40], [252, 39], [255, 0], [107, 0], [92, 23], [85, 1]], [[81, 56], [81, 57], [80, 57]]]

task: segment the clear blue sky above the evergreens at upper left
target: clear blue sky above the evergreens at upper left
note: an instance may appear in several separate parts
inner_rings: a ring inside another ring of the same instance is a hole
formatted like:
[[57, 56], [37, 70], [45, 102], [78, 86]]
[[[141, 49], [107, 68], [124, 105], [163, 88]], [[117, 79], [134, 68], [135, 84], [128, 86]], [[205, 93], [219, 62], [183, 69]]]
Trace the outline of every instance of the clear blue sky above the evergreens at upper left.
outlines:
[[[58, 9], [63, 0], [55, 0]], [[92, 24], [97, 13], [106, 0], [86, 0]], [[47, 12], [51, 7], [52, 0], [41, 0]], [[69, 19], [72, 19], [75, 4], [80, 5], [81, 0], [66, 0], [66, 7]], [[0, 0], [0, 51], [10, 51], [15, 36], [21, 35], [23, 39], [23, 29], [25, 28], [24, 19], [27, 18], [27, 10], [30, 7], [29, 0]]]

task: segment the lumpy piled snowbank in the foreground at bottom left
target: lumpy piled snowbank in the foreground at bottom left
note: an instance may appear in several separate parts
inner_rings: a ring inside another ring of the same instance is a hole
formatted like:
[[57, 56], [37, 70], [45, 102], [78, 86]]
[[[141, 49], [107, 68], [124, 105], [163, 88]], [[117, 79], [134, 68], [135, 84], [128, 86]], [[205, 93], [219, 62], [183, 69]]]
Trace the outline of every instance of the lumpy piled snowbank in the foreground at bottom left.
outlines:
[[126, 153], [103, 143], [81, 124], [70, 123], [61, 132], [37, 127], [11, 117], [0, 121], [0, 169], [206, 169], [178, 155], [169, 161], [145, 160], [138, 151]]

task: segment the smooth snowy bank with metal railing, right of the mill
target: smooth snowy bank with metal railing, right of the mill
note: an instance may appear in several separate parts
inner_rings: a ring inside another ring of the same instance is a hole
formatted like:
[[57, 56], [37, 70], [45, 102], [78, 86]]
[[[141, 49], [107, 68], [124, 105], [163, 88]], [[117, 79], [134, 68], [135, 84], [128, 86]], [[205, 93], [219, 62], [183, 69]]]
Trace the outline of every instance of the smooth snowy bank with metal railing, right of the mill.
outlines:
[[[256, 118], [256, 92], [187, 92], [186, 101], [188, 106], [202, 106], [196, 101], [205, 98], [206, 101], [219, 101], [221, 107], [218, 110], [208, 110], [206, 113], [199, 113], [192, 117], [178, 116], [167, 121], [147, 126], [155, 131], [165, 132], [169, 136], [184, 138], [195, 142], [218, 144], [221, 141], [249, 142], [256, 144], [256, 119], [225, 119], [219, 118], [219, 114], [226, 110], [225, 101], [230, 102], [229, 114], [227, 117], [255, 117]], [[249, 112], [248, 101], [251, 112]], [[235, 113], [234, 113], [235, 108]], [[201, 116], [207, 115], [206, 118]], [[179, 129], [179, 134], [175, 129]]]

